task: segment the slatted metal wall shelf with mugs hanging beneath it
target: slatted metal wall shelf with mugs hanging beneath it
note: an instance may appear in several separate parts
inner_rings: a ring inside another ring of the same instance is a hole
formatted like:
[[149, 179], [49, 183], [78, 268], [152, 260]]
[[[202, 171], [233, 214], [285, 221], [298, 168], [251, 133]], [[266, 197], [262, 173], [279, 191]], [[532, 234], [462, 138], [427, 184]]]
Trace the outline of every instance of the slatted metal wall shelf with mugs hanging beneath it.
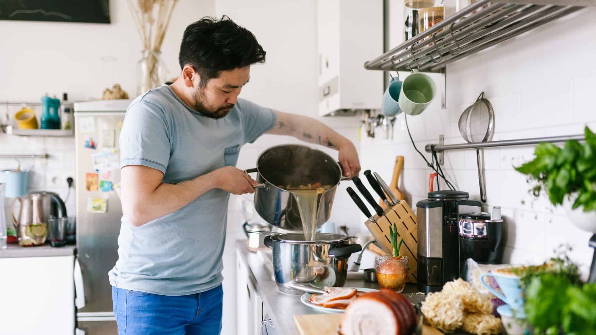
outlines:
[[367, 70], [440, 72], [447, 64], [542, 24], [596, 6], [596, 0], [479, 0], [364, 63]]

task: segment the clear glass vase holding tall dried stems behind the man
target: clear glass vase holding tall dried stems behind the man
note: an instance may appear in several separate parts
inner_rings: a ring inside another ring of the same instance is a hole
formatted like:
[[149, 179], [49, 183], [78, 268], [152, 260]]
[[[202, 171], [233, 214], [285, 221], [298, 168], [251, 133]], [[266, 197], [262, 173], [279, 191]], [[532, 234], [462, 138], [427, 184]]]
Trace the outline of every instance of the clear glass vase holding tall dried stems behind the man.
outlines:
[[136, 63], [136, 95], [161, 86], [167, 77], [166, 66], [159, 51], [143, 50]]

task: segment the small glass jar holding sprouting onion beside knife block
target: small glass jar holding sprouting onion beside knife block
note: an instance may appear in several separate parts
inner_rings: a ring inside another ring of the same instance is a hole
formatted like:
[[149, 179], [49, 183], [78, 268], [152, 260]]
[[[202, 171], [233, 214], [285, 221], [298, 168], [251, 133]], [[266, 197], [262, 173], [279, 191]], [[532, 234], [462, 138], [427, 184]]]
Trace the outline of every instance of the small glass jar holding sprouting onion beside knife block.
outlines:
[[381, 255], [374, 258], [378, 286], [401, 293], [408, 280], [408, 258]]

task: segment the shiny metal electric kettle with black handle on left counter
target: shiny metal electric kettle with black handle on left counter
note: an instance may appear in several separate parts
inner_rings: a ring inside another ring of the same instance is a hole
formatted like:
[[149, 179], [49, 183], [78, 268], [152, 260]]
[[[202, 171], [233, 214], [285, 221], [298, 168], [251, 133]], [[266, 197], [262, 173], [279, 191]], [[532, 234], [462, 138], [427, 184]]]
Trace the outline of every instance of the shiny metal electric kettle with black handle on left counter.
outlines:
[[[20, 203], [18, 217], [14, 207]], [[17, 230], [18, 244], [23, 247], [41, 246], [48, 237], [48, 218], [66, 218], [66, 206], [58, 194], [51, 192], [29, 193], [17, 197], [11, 206], [14, 227]]]

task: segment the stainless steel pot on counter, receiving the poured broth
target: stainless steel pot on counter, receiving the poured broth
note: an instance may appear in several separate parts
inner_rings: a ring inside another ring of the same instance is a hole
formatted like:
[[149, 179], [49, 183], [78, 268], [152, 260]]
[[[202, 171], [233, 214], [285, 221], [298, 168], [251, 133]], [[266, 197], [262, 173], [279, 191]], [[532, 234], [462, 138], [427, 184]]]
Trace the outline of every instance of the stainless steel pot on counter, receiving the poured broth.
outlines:
[[280, 291], [302, 294], [295, 284], [324, 288], [343, 287], [346, 283], [347, 259], [362, 250], [360, 244], [349, 244], [352, 236], [316, 234], [315, 241], [305, 241], [302, 233], [269, 235], [265, 246], [273, 249], [273, 270]]

